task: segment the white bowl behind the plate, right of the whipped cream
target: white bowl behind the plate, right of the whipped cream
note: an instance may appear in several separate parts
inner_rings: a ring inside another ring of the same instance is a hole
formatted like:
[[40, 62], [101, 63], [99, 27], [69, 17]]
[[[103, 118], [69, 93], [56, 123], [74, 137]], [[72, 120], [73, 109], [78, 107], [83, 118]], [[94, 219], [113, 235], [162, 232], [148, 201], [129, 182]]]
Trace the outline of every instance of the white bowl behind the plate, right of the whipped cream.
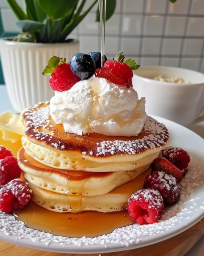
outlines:
[[[153, 80], [182, 77], [191, 83]], [[150, 77], [150, 78], [149, 78]], [[146, 98], [146, 112], [188, 126], [204, 108], [204, 74], [178, 67], [149, 66], [134, 71], [133, 88]], [[204, 120], [199, 118], [199, 121]]]

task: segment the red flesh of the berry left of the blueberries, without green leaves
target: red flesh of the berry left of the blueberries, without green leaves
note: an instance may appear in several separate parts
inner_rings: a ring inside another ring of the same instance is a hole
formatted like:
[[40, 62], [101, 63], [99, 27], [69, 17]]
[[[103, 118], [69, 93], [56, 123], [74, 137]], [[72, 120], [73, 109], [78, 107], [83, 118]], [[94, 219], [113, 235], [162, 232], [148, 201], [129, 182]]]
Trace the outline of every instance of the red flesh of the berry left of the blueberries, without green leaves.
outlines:
[[74, 84], [80, 80], [81, 79], [72, 72], [70, 63], [63, 63], [55, 68], [49, 82], [54, 91], [63, 92], [71, 89]]

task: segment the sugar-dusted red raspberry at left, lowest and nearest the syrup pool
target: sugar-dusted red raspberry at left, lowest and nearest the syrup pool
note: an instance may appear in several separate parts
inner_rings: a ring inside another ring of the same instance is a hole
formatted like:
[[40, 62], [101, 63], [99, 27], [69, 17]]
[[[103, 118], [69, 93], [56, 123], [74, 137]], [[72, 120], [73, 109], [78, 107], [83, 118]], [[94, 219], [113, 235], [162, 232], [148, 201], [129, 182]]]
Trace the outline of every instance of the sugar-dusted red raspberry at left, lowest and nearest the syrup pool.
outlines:
[[32, 190], [27, 182], [13, 180], [0, 190], [0, 210], [9, 213], [23, 209], [32, 198]]

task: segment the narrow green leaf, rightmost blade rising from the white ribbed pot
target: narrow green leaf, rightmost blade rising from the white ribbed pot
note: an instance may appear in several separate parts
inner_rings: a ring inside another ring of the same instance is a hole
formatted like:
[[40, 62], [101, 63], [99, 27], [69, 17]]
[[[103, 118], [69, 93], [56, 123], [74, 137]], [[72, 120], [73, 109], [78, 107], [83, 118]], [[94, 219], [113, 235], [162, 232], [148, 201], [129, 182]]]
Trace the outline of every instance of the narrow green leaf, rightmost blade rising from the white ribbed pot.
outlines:
[[61, 41], [63, 41], [72, 32], [72, 30], [76, 28], [76, 26], [87, 16], [87, 14], [91, 11], [91, 9], [95, 6], [97, 2], [98, 0], [95, 0], [94, 3], [86, 10], [86, 12], [84, 12], [79, 17], [74, 18], [69, 24], [64, 27], [60, 36]]

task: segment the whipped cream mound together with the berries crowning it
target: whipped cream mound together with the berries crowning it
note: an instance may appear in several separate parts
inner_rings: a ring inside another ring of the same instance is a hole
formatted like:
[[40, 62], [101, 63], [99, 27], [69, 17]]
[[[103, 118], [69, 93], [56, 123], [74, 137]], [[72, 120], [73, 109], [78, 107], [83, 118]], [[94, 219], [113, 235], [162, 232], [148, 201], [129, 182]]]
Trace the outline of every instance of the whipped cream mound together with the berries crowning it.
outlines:
[[51, 74], [55, 91], [51, 117], [65, 132], [77, 135], [137, 136], [146, 120], [145, 99], [138, 100], [132, 89], [132, 70], [139, 65], [131, 59], [123, 63], [119, 52], [113, 62], [104, 56], [101, 67], [100, 57], [98, 52], [77, 53], [70, 63], [56, 56], [48, 61], [43, 73]]

